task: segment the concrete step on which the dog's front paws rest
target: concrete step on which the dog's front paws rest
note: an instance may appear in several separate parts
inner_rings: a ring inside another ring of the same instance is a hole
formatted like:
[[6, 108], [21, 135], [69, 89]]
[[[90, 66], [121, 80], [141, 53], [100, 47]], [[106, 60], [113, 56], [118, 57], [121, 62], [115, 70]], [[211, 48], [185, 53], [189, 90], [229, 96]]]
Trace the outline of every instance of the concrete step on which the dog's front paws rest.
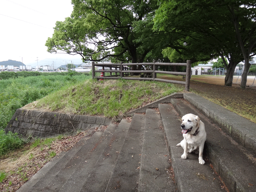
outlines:
[[[198, 154], [188, 154], [188, 159], [180, 158], [183, 149], [176, 146], [183, 140], [180, 116], [171, 104], [159, 104], [164, 132], [170, 150], [172, 167], [178, 192], [224, 192], [218, 175], [206, 164], [198, 162]], [[205, 157], [204, 157], [205, 160]]]

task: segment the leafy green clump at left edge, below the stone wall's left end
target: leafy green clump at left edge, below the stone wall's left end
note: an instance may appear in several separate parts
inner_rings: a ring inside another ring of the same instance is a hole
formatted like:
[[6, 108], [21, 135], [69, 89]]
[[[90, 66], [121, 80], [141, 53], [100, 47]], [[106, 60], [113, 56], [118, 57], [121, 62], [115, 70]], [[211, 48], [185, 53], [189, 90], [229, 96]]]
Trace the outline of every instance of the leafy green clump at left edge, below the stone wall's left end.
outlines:
[[20, 138], [17, 133], [0, 130], [0, 156], [7, 152], [20, 148], [24, 144], [24, 139]]

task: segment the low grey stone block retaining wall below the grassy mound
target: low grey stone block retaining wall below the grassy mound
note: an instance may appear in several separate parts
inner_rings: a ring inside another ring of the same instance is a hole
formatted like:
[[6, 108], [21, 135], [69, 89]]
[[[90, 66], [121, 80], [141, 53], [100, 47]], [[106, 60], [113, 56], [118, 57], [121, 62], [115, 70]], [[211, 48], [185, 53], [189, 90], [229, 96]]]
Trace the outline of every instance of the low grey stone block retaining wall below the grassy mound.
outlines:
[[5, 128], [23, 137], [46, 138], [77, 130], [109, 125], [111, 119], [99, 116], [68, 115], [57, 112], [17, 109]]

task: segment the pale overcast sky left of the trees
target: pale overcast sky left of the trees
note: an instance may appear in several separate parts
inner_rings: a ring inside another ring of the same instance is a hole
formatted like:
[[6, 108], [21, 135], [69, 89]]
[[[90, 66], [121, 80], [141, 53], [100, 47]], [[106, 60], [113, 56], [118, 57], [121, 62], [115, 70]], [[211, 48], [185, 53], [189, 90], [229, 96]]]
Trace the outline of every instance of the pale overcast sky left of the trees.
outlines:
[[71, 0], [0, 0], [0, 61], [82, 63], [79, 56], [50, 54], [45, 46], [56, 21], [64, 21], [72, 10]]

